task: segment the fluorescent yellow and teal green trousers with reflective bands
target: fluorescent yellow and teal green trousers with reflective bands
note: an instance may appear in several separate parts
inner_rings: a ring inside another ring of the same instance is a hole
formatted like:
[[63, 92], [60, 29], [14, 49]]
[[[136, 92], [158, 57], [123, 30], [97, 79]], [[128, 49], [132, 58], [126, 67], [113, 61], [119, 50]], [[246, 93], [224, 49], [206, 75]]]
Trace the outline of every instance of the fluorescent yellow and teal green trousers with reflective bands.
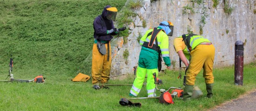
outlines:
[[157, 69], [157, 59], [146, 59], [146, 58], [139, 58], [139, 67], [137, 68], [136, 79], [134, 80], [133, 86], [130, 90], [130, 93], [134, 96], [137, 96], [143, 85], [145, 80], [146, 74], [147, 76], [147, 92], [148, 97], [154, 97], [155, 94], [155, 80], [153, 78], [153, 73], [156, 73], [156, 77], [158, 75]]

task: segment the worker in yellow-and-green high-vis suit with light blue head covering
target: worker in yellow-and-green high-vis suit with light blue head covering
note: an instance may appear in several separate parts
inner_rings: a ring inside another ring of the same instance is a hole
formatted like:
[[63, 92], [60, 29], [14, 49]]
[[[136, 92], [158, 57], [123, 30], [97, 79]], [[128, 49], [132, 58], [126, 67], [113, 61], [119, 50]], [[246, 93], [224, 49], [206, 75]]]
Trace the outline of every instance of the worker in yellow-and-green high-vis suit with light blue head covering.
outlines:
[[[160, 23], [157, 28], [150, 29], [141, 37], [141, 53], [139, 56], [139, 66], [137, 68], [137, 77], [134, 80], [133, 86], [130, 90], [129, 96], [136, 97], [143, 85], [146, 74], [147, 77], [147, 92], [148, 97], [154, 97], [155, 84], [153, 73], [158, 74], [158, 60], [159, 54], [162, 54], [162, 58], [167, 68], [170, 68], [171, 62], [169, 58], [169, 43], [167, 34], [170, 33], [169, 24], [166, 21]], [[161, 57], [160, 57], [161, 59]], [[161, 59], [162, 61], [162, 59]], [[160, 68], [161, 70], [161, 68]]]

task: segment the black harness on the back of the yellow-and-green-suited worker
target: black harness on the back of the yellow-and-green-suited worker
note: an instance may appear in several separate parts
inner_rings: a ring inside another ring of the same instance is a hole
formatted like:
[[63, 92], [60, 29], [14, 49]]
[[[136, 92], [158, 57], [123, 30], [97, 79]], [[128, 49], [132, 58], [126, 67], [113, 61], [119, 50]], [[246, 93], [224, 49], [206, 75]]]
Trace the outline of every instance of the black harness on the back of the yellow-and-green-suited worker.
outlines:
[[[146, 47], [146, 48], [149, 48], [149, 49], [154, 49], [155, 51], [158, 52], [158, 72], [161, 71], [162, 69], [162, 53], [161, 53], [161, 49], [160, 47], [158, 46], [158, 42], [157, 42], [157, 38], [156, 36], [158, 35], [158, 33], [160, 31], [163, 31], [162, 29], [157, 29], [157, 28], [154, 28], [154, 30], [152, 31], [152, 36], [151, 36], [151, 39], [149, 42], [144, 42], [142, 44], [143, 47]], [[148, 35], [149, 36], [149, 35]], [[155, 42], [155, 44], [154, 44]]]

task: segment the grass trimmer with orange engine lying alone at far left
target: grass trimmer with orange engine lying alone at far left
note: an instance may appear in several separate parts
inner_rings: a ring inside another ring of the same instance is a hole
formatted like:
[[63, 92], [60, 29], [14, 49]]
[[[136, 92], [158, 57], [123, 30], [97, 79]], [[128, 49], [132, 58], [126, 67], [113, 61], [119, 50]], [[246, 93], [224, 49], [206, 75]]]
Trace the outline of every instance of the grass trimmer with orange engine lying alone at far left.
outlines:
[[[39, 75], [37, 77], [35, 77], [32, 80], [20, 80], [20, 79], [14, 79], [13, 74], [13, 59], [10, 59], [10, 64], [9, 64], [9, 74], [7, 76], [7, 78], [9, 77], [9, 80], [0, 80], [0, 81], [4, 81], [4, 82], [37, 82], [37, 83], [43, 83], [44, 81], [44, 77], [42, 75]], [[7, 79], [6, 78], [6, 79]]]

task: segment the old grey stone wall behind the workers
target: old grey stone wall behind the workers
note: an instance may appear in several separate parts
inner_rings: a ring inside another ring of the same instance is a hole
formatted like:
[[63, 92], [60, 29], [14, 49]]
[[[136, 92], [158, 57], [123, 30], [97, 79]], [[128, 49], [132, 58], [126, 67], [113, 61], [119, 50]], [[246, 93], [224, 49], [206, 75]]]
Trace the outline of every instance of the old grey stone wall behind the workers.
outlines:
[[[224, 1], [213, 8], [212, 0], [204, 0], [201, 5], [194, 4], [194, 11], [183, 14], [183, 6], [192, 6], [191, 0], [144, 0], [143, 7], [135, 10], [137, 17], [129, 25], [128, 43], [123, 38], [112, 41], [112, 70], [111, 77], [121, 77], [133, 74], [133, 67], [138, 66], [138, 57], [141, 46], [137, 40], [139, 34], [143, 35], [148, 29], [156, 27], [162, 21], [171, 21], [174, 24], [173, 36], [169, 37], [170, 59], [172, 68], [179, 67], [179, 57], [173, 48], [175, 37], [188, 33], [188, 27], [195, 34], [200, 35], [199, 27], [203, 14], [207, 14], [206, 24], [202, 28], [202, 36], [208, 38], [216, 48], [214, 67], [234, 65], [234, 47], [237, 40], [244, 43], [244, 64], [256, 61], [256, 0], [228, 0], [229, 6], [234, 10], [231, 14], [224, 12]], [[205, 11], [203, 10], [206, 7]], [[147, 26], [142, 27], [145, 20]], [[229, 31], [228, 33], [226, 31]], [[128, 60], [123, 59], [123, 52], [128, 49]], [[165, 69], [164, 64], [162, 69]]]

